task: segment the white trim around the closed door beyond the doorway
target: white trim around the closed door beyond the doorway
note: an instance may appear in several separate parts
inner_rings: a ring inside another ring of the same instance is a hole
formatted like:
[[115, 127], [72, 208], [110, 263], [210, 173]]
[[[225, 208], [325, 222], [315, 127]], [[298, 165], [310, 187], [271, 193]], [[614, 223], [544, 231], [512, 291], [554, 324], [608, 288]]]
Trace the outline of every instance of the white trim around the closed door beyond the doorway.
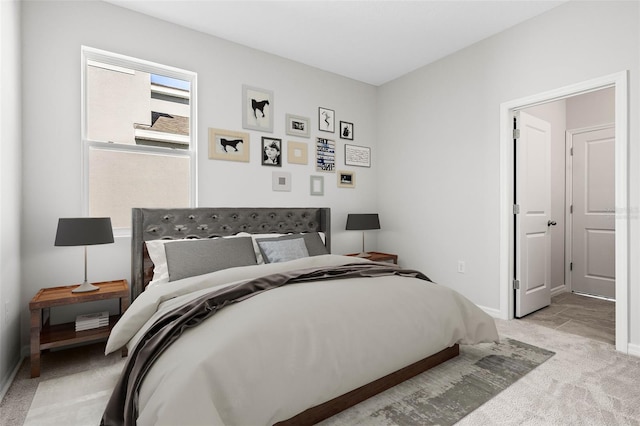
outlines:
[[[571, 148], [573, 146], [573, 138], [576, 135], [597, 130], [605, 130], [613, 128], [615, 132], [615, 123], [600, 124], [597, 126], [581, 127], [579, 129], [567, 129], [564, 136], [565, 149], [565, 227], [564, 227], [564, 289], [573, 291], [573, 281], [571, 277], [571, 261], [573, 259], [573, 215], [570, 213], [573, 204], [573, 156]], [[571, 143], [570, 143], [571, 142]]]

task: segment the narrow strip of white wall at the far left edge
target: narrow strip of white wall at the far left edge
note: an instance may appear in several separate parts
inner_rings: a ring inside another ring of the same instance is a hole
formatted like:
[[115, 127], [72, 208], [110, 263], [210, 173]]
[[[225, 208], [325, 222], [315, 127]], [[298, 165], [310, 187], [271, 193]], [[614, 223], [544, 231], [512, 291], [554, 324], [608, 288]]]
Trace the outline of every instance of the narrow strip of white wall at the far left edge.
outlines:
[[0, 1], [0, 398], [20, 360], [20, 2]]

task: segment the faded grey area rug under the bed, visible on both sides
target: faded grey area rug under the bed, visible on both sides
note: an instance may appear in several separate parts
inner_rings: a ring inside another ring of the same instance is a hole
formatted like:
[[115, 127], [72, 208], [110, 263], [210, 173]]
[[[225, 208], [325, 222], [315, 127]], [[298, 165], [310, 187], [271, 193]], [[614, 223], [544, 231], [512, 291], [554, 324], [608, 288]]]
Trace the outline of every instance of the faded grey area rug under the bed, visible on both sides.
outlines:
[[[554, 355], [517, 340], [460, 346], [460, 355], [321, 424], [452, 425]], [[98, 424], [124, 361], [38, 385], [25, 426]]]

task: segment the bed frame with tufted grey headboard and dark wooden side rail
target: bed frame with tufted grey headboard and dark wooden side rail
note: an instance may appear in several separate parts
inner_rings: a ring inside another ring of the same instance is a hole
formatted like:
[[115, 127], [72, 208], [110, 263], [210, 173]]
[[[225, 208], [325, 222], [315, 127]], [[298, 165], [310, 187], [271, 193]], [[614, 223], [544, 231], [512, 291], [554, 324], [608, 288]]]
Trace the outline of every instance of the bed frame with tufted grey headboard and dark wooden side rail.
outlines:
[[[153, 277], [153, 263], [145, 241], [156, 239], [213, 238], [238, 232], [250, 234], [324, 232], [331, 252], [331, 210], [329, 208], [193, 208], [142, 209], [132, 211], [131, 300]], [[398, 371], [354, 389], [323, 404], [309, 408], [279, 426], [312, 425], [396, 386], [460, 353], [457, 344]]]

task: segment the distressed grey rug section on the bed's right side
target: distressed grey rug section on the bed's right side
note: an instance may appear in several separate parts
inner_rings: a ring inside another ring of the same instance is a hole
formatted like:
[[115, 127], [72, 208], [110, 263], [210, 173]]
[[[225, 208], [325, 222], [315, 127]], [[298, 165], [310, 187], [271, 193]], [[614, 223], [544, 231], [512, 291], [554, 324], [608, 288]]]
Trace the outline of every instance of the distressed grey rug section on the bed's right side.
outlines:
[[553, 355], [509, 338], [499, 344], [460, 345], [458, 357], [321, 425], [453, 425]]

